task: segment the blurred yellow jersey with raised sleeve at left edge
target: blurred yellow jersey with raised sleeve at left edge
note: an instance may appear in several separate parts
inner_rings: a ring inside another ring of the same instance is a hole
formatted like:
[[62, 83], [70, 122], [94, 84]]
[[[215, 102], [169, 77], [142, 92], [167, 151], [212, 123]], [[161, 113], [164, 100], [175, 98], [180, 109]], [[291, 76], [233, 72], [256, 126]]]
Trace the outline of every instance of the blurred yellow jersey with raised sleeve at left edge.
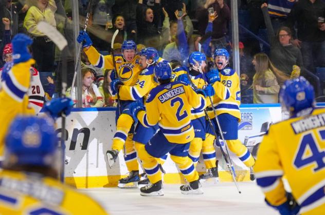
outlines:
[[14, 64], [5, 64], [1, 74], [0, 91], [0, 160], [4, 153], [5, 135], [11, 121], [19, 114], [35, 114], [28, 106], [27, 91], [31, 74], [29, 68], [34, 60]]

